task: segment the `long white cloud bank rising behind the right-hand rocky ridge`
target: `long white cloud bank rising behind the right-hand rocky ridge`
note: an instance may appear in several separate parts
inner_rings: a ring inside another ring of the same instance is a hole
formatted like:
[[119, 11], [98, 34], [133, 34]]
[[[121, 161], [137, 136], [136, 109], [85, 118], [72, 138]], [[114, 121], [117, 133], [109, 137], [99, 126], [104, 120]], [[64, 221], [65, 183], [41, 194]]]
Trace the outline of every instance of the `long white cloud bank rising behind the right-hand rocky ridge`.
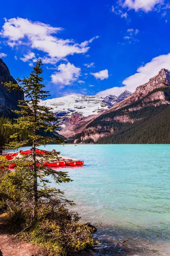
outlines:
[[99, 92], [98, 95], [101, 95], [102, 97], [105, 97], [108, 94], [114, 94], [118, 96], [125, 90], [134, 92], [136, 90], [136, 87], [147, 83], [149, 79], [153, 76], [156, 76], [162, 68], [170, 70], [170, 53], [167, 55], [159, 55], [153, 58], [144, 66], [139, 67], [137, 69], [137, 73], [127, 77], [122, 82], [122, 84], [124, 85], [123, 87], [113, 87], [108, 90], [103, 90]]

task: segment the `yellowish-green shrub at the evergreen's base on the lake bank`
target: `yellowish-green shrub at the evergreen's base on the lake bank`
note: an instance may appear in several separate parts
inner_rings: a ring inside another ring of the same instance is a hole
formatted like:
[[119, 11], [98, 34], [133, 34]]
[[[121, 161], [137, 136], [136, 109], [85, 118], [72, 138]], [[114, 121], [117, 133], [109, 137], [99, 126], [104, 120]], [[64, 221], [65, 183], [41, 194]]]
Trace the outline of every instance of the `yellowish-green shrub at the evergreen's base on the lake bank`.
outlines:
[[[65, 256], [94, 245], [95, 227], [80, 223], [77, 213], [67, 209], [66, 204], [53, 198], [39, 201], [37, 218], [31, 221], [31, 207], [23, 204], [8, 205], [8, 214], [13, 224], [20, 224], [26, 230], [21, 237], [46, 248], [50, 255]], [[24, 226], [22, 225], [24, 224]]]

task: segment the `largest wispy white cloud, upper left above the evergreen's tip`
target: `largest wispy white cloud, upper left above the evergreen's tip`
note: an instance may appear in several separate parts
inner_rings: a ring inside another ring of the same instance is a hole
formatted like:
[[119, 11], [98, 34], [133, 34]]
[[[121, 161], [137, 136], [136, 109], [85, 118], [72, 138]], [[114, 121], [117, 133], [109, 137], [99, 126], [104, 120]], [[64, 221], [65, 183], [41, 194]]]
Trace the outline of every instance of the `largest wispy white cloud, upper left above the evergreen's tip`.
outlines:
[[52, 27], [45, 23], [17, 17], [5, 19], [0, 36], [8, 38], [7, 44], [10, 47], [25, 44], [32, 49], [45, 52], [47, 56], [43, 58], [43, 61], [48, 61], [48, 63], [50, 63], [48, 58], [52, 58], [52, 63], [56, 63], [68, 55], [85, 53], [89, 49], [88, 44], [95, 38], [99, 38], [96, 36], [89, 41], [77, 44], [72, 39], [57, 38], [56, 34], [62, 30], [60, 27]]

